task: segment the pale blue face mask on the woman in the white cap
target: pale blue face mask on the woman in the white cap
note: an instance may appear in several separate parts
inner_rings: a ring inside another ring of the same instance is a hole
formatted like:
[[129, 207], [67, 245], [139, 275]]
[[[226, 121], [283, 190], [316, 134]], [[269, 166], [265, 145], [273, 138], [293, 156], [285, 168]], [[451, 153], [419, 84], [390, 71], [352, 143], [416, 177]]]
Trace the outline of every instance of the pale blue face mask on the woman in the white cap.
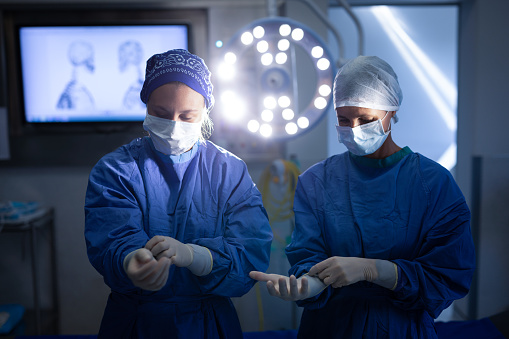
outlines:
[[390, 129], [385, 132], [382, 124], [387, 114], [389, 112], [382, 119], [354, 128], [336, 125], [339, 142], [355, 155], [363, 156], [374, 153], [382, 146], [391, 132]]

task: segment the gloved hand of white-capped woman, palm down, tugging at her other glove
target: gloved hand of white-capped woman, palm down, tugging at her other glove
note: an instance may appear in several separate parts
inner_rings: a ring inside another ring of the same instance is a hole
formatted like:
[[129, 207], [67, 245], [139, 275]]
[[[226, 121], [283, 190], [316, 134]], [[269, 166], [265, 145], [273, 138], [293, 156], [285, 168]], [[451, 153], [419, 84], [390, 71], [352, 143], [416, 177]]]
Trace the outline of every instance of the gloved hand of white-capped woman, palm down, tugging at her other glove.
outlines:
[[308, 274], [320, 278], [326, 285], [338, 288], [362, 280], [373, 281], [377, 270], [374, 259], [331, 257], [311, 267]]

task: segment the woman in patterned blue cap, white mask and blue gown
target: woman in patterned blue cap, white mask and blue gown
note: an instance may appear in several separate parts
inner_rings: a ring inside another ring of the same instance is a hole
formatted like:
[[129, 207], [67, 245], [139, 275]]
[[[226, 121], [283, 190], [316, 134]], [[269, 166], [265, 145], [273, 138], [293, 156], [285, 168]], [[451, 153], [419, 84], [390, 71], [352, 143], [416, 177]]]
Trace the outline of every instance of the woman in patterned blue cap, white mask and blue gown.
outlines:
[[214, 103], [201, 58], [147, 61], [149, 136], [90, 173], [85, 239], [111, 288], [99, 338], [241, 338], [230, 297], [269, 264], [272, 232], [245, 163], [205, 141]]

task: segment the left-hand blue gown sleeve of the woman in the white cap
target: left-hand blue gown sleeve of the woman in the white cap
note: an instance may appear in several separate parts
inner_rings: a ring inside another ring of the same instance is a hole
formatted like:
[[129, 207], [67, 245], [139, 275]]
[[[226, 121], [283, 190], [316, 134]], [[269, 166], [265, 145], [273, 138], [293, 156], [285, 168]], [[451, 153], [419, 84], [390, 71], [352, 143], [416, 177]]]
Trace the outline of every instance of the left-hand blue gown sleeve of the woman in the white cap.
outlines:
[[[318, 178], [308, 180], [311, 176], [299, 177], [293, 210], [295, 213], [295, 229], [292, 233], [292, 241], [286, 247], [286, 256], [292, 266], [289, 275], [300, 277], [311, 269], [315, 264], [330, 257], [330, 253], [323, 241], [323, 210], [316, 206], [323, 206], [323, 184]], [[317, 200], [320, 199], [320, 200]], [[299, 306], [311, 309], [321, 308], [332, 295], [332, 287], [328, 286], [316, 296], [297, 302]]]

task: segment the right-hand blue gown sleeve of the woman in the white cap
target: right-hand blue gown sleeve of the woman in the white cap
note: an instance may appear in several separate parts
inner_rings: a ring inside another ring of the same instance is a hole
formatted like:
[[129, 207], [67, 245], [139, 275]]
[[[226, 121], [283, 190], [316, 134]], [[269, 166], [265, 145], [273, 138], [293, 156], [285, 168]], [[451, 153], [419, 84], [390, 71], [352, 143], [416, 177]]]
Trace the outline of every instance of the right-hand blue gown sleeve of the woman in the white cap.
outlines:
[[399, 267], [393, 303], [405, 310], [425, 309], [436, 318], [468, 293], [475, 250], [470, 211], [450, 173], [435, 171], [423, 181], [429, 196], [427, 234], [414, 260], [393, 260]]

